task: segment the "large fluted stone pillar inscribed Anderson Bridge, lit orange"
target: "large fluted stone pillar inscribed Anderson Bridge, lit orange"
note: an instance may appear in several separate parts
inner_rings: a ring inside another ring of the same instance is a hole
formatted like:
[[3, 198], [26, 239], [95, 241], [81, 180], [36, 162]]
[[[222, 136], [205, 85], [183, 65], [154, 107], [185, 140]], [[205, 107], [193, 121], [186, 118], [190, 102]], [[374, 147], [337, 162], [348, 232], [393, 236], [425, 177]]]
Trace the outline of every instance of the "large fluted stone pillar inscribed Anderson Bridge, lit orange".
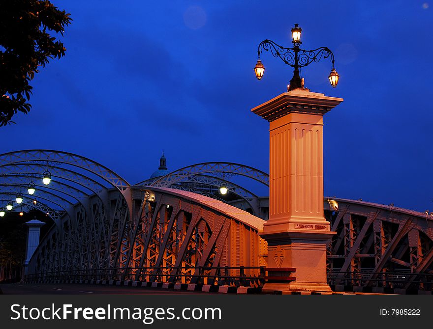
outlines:
[[270, 122], [269, 220], [264, 291], [329, 291], [323, 215], [323, 114], [343, 100], [295, 89], [251, 111]]

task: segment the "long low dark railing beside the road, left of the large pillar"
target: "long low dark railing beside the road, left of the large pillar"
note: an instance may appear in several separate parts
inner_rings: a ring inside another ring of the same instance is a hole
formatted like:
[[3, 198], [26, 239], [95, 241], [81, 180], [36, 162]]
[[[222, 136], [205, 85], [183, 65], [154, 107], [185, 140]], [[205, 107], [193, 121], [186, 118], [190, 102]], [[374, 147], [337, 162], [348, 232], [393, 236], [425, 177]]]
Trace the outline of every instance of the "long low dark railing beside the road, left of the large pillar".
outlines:
[[136, 280], [144, 282], [180, 282], [229, 286], [262, 287], [265, 267], [152, 267], [53, 271], [27, 274], [24, 281], [55, 280]]

